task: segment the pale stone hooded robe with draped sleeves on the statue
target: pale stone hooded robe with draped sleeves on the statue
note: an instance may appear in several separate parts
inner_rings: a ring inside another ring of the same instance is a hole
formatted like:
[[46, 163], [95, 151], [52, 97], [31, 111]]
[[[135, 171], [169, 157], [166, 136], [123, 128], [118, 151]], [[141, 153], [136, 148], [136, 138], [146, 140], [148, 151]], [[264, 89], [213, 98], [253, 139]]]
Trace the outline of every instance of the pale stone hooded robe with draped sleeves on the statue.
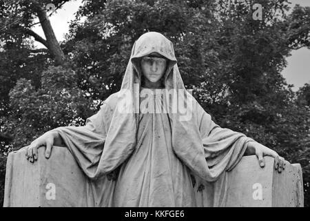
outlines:
[[[145, 98], [139, 64], [141, 57], [152, 52], [169, 62], [165, 88]], [[253, 140], [215, 124], [185, 90], [176, 63], [172, 42], [147, 32], [132, 48], [121, 90], [110, 95], [85, 126], [53, 130], [88, 177], [88, 206], [225, 205], [226, 172], [238, 164]], [[165, 90], [184, 91], [187, 117], [141, 111], [145, 99], [171, 109]], [[205, 189], [198, 191], [199, 186]]]

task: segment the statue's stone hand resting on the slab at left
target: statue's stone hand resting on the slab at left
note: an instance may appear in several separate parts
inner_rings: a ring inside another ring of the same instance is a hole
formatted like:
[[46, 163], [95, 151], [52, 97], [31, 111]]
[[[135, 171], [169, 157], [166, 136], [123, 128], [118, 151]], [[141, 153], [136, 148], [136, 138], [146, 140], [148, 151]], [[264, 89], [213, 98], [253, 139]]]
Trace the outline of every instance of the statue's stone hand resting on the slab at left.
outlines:
[[50, 157], [50, 152], [52, 151], [52, 146], [54, 144], [55, 134], [53, 132], [48, 131], [34, 140], [27, 148], [25, 156], [27, 160], [30, 162], [34, 162], [34, 160], [38, 160], [38, 148], [41, 146], [46, 146], [45, 149], [45, 158]]

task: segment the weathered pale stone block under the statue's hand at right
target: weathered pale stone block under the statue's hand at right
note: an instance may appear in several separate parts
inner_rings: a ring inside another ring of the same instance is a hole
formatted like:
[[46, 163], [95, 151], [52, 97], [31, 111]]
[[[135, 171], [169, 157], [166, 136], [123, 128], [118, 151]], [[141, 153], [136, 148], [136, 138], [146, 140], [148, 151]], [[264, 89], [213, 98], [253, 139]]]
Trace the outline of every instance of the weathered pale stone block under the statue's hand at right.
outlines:
[[228, 173], [226, 206], [304, 206], [300, 164], [286, 162], [285, 171], [274, 169], [273, 157], [265, 157], [263, 169], [256, 156], [242, 157]]

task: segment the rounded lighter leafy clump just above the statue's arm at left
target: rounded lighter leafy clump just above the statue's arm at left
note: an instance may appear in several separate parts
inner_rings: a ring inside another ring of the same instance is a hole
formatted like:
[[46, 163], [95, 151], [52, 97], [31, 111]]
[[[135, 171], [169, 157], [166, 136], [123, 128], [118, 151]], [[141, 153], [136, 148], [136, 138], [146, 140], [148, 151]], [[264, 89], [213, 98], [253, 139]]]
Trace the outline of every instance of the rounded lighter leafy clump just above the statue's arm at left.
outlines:
[[12, 142], [15, 148], [29, 144], [52, 128], [79, 126], [96, 110], [92, 99], [77, 86], [74, 71], [61, 66], [43, 71], [37, 90], [30, 80], [19, 79], [10, 91], [10, 98], [12, 114], [8, 122], [15, 135]]

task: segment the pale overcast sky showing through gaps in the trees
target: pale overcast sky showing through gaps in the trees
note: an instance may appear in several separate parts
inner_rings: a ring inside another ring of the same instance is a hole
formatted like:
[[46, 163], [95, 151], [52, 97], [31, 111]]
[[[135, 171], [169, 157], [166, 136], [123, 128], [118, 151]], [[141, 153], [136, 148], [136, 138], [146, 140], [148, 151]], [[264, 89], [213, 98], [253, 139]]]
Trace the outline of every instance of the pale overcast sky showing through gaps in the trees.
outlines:
[[[310, 0], [291, 0], [294, 5], [296, 3], [301, 6], [310, 6]], [[54, 28], [55, 35], [59, 41], [63, 41], [64, 36], [68, 33], [69, 23], [74, 19], [74, 13], [81, 6], [82, 0], [70, 1], [65, 3], [61, 10], [57, 10], [50, 17], [52, 27]], [[44, 37], [41, 26], [38, 24], [34, 26], [33, 30], [37, 34]], [[36, 42], [35, 45], [38, 48], [43, 46]], [[282, 71], [282, 75], [287, 79], [288, 84], [294, 85], [294, 90], [298, 90], [305, 83], [310, 84], [310, 50], [307, 48], [300, 48], [299, 50], [293, 50], [291, 56], [287, 57], [287, 68]]]

